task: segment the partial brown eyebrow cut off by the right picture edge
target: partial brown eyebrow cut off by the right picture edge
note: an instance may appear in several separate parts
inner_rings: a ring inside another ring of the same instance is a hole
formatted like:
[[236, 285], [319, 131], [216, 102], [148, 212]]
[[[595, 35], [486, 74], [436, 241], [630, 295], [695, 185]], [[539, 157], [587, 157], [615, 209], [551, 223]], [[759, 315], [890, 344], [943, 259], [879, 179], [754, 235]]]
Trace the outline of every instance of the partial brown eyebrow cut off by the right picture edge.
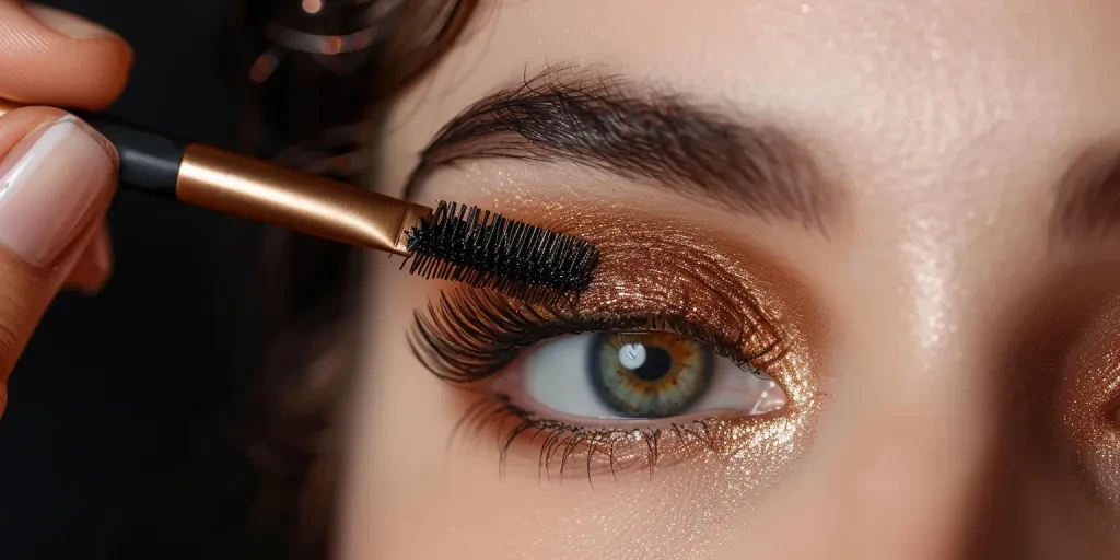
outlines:
[[1057, 184], [1053, 239], [1084, 239], [1120, 230], [1120, 146], [1088, 150]]

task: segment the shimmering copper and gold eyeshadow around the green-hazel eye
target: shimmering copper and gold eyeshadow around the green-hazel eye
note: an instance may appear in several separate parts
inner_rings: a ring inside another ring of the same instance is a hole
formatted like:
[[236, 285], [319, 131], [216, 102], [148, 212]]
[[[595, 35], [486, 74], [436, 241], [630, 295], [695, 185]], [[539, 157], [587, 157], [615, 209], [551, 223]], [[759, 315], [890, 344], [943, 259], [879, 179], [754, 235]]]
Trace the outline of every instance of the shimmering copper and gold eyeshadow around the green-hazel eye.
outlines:
[[[716, 418], [672, 429], [596, 429], [513, 410], [516, 407], [507, 399], [494, 395], [469, 407], [458, 433], [491, 433], [498, 438], [503, 464], [523, 450], [544, 470], [557, 466], [550, 465], [550, 457], [561, 467], [582, 461], [591, 468], [609, 457], [609, 470], [615, 470], [616, 463], [652, 468], [657, 458], [642, 456], [651, 454], [651, 445], [661, 445], [661, 452], [654, 455], [666, 458], [697, 451], [694, 444], [700, 442], [703, 454], [727, 459], [728, 468], [755, 473], [773, 470], [800, 454], [802, 442], [810, 439], [811, 420], [820, 410], [815, 372], [820, 371], [819, 344], [823, 338], [820, 314], [800, 282], [746, 250], [717, 242], [718, 235], [694, 224], [643, 224], [632, 213], [594, 207], [553, 207], [547, 215], [510, 214], [578, 234], [599, 246], [600, 265], [576, 305], [579, 315], [671, 314], [702, 326], [721, 339], [734, 340], [740, 354], [766, 355], [765, 373], [782, 385], [788, 410], [777, 418]], [[774, 345], [775, 340], [781, 345]], [[771, 349], [759, 353], [759, 348]], [[534, 445], [526, 446], [522, 439], [533, 440], [534, 433]], [[636, 445], [638, 441], [645, 445]], [[553, 455], [553, 447], [561, 444], [564, 449]], [[601, 456], [604, 446], [609, 450], [607, 456]], [[598, 459], [596, 449], [601, 456]]]

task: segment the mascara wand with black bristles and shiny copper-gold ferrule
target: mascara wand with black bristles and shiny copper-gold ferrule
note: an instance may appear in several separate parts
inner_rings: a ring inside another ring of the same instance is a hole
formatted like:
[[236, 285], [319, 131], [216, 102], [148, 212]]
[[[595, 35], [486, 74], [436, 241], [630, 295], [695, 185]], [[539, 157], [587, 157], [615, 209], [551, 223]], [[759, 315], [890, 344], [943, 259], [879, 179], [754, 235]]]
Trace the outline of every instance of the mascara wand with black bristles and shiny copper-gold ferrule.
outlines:
[[[0, 100], [0, 115], [18, 105]], [[430, 279], [516, 295], [578, 293], [598, 251], [477, 207], [427, 206], [217, 148], [87, 119], [121, 158], [121, 186], [308, 235], [407, 256]]]

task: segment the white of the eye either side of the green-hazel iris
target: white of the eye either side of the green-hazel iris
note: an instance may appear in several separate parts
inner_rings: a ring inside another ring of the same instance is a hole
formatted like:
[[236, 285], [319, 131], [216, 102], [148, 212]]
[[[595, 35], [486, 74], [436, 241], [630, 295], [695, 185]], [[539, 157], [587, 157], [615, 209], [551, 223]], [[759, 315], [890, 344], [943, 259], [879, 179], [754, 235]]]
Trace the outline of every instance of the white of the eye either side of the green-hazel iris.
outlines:
[[[562, 336], [542, 344], [525, 356], [521, 368], [511, 374], [522, 375], [521, 385], [534, 403], [520, 404], [544, 418], [553, 414], [599, 420], [627, 418], [607, 405], [591, 383], [588, 367], [591, 365], [590, 353], [599, 349], [594, 347], [596, 340], [598, 337], [595, 334]], [[641, 355], [633, 348], [635, 346], [641, 348]], [[634, 352], [627, 354], [627, 348]], [[646, 358], [646, 351], [642, 345], [626, 345], [619, 351], [619, 358], [641, 365]], [[713, 360], [711, 381], [704, 394], [682, 413], [719, 410], [759, 416], [787, 404], [785, 392], [777, 383], [745, 372], [730, 360]], [[623, 365], [631, 367], [627, 362]]]

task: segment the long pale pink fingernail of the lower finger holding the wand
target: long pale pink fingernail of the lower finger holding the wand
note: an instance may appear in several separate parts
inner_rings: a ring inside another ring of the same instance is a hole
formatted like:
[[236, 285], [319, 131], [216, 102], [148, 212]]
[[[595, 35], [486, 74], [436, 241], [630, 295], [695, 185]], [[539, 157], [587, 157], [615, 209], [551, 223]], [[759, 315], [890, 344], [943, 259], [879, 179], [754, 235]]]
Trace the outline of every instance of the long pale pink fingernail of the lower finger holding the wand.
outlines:
[[0, 161], [0, 244], [30, 264], [53, 264], [113, 188], [116, 164], [93, 134], [67, 116]]

